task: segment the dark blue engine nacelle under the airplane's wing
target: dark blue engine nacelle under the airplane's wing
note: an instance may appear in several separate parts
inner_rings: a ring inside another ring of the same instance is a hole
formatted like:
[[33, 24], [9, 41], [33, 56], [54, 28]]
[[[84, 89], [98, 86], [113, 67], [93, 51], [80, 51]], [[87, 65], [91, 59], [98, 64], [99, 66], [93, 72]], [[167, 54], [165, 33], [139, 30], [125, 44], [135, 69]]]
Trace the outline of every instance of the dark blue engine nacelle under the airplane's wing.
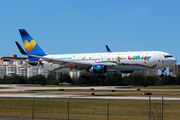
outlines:
[[106, 65], [94, 65], [91, 67], [91, 69], [89, 70], [90, 72], [93, 73], [106, 73], [107, 72], [107, 67]]

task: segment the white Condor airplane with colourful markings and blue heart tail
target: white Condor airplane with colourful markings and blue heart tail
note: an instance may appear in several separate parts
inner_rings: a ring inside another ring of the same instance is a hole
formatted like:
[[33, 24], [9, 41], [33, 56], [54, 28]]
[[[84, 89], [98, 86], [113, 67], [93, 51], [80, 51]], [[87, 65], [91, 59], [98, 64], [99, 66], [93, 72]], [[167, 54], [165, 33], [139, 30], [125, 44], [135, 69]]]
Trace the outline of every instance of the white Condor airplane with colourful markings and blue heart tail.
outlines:
[[[106, 45], [108, 53], [83, 53], [83, 54], [55, 54], [44, 52], [37, 42], [25, 29], [19, 29], [25, 50], [18, 42], [19, 51], [28, 56], [22, 58], [27, 64], [51, 71], [84, 71], [95, 73], [99, 78], [105, 79], [107, 71], [132, 73], [133, 70], [164, 69], [174, 65], [177, 60], [169, 53], [162, 51], [135, 51], [111, 52]], [[20, 60], [20, 59], [18, 59]], [[81, 76], [89, 79], [88, 75]]]

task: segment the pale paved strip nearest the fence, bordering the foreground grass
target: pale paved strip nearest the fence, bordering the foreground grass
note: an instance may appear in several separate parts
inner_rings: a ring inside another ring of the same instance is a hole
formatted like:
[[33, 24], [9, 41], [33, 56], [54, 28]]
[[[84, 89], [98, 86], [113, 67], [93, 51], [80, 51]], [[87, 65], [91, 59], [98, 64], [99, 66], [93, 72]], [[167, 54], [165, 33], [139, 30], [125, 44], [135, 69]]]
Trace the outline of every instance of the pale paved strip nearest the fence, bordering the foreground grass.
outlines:
[[[22, 94], [0, 94], [0, 98], [41, 98], [41, 99], [94, 99], [94, 100], [149, 100], [149, 96], [92, 96], [72, 94], [44, 94], [44, 93], [22, 93]], [[152, 101], [160, 101], [162, 97], [151, 96]], [[164, 101], [180, 101], [180, 97], [163, 97]]]

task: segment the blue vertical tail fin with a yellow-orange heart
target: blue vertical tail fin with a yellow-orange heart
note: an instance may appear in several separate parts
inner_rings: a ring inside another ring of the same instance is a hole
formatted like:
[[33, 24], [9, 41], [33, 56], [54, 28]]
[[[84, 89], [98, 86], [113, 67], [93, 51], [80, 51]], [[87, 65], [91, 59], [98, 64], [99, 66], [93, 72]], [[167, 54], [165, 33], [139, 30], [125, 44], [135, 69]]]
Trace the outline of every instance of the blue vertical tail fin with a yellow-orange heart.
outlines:
[[21, 34], [24, 47], [26, 49], [27, 54], [30, 55], [39, 55], [44, 56], [47, 55], [36, 43], [36, 41], [26, 32], [25, 29], [19, 29]]

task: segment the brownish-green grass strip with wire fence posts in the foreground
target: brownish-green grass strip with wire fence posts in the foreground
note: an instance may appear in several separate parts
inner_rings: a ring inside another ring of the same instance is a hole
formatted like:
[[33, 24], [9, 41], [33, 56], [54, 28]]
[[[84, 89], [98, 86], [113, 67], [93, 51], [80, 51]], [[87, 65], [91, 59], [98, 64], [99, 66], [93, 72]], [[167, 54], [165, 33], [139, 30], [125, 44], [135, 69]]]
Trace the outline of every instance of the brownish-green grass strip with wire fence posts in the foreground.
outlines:
[[180, 101], [0, 98], [0, 116], [84, 120], [180, 119]]

